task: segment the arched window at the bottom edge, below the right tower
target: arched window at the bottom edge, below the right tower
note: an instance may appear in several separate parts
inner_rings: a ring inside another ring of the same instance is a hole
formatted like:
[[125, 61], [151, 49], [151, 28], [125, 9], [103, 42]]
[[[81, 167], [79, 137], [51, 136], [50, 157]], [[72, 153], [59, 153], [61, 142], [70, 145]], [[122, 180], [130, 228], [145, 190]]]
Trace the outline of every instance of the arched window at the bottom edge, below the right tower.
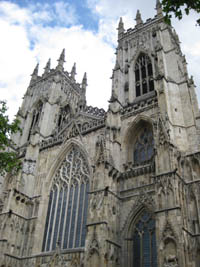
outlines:
[[133, 267], [157, 267], [155, 220], [147, 211], [143, 211], [134, 228]]

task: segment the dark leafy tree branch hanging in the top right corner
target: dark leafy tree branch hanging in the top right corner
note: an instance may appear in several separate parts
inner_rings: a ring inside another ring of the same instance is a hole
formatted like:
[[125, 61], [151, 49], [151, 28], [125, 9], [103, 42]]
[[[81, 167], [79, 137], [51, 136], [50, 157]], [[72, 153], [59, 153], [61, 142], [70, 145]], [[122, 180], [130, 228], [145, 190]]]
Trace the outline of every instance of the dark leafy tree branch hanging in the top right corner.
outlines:
[[[200, 13], [200, 0], [162, 0], [163, 12], [165, 13], [165, 21], [170, 24], [172, 13], [179, 20], [182, 19], [184, 11], [188, 15], [191, 10]], [[197, 20], [200, 26], [200, 19]]]

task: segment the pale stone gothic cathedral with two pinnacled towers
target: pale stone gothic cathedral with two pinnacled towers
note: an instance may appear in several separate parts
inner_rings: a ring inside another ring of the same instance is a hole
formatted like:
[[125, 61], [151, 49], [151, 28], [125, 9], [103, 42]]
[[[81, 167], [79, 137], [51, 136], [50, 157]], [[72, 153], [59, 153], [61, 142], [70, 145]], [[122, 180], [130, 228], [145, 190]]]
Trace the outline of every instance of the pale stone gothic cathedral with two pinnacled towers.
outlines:
[[87, 76], [38, 65], [0, 195], [1, 267], [199, 267], [200, 113], [174, 29], [118, 26], [108, 111]]

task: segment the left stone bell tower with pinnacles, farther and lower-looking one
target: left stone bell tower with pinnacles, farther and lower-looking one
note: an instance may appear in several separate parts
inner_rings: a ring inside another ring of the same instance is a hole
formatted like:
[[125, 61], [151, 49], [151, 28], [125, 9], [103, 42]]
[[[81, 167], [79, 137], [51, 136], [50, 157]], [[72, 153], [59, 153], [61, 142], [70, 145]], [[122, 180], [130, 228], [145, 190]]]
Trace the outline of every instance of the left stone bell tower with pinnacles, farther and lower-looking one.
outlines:
[[36, 65], [30, 84], [17, 117], [21, 121], [23, 134], [13, 136], [20, 147], [20, 157], [25, 157], [23, 173], [23, 191], [34, 194], [34, 173], [37, 169], [40, 144], [48, 141], [86, 106], [87, 76], [84, 74], [81, 84], [76, 82], [76, 64], [71, 72], [64, 70], [65, 49], [60, 54], [55, 69], [49, 59], [44, 72], [39, 76], [39, 64]]

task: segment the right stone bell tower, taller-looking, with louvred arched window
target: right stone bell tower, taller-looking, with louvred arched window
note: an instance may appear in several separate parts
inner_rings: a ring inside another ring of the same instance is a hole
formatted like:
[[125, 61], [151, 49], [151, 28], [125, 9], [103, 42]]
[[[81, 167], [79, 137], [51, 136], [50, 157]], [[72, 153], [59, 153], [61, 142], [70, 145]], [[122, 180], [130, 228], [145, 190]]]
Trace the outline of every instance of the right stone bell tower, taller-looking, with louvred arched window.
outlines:
[[159, 1], [156, 10], [156, 16], [146, 22], [138, 10], [135, 27], [126, 31], [120, 18], [110, 101], [130, 109], [156, 95], [158, 112], [167, 118], [174, 145], [183, 151], [198, 150], [196, 126], [200, 122], [195, 86], [188, 76], [178, 35], [164, 23]]

